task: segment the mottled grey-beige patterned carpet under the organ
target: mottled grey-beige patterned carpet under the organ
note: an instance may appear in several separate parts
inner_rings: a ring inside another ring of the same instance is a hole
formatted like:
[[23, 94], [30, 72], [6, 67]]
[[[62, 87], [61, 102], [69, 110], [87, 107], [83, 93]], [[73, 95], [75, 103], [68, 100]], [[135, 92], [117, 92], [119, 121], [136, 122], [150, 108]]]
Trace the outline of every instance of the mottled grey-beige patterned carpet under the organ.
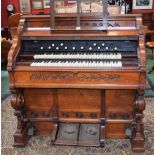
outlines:
[[14, 148], [13, 133], [16, 118], [10, 106], [10, 97], [2, 102], [2, 155], [153, 155], [153, 98], [146, 98], [144, 111], [145, 153], [131, 152], [129, 140], [106, 140], [105, 148], [52, 146], [50, 137], [33, 137], [25, 148]]

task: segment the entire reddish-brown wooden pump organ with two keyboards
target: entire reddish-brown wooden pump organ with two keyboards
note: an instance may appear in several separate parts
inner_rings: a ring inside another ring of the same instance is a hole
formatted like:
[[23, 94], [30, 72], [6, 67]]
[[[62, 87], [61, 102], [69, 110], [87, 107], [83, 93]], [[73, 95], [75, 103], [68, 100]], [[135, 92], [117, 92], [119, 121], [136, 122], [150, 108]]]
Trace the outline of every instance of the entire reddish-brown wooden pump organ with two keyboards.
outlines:
[[145, 150], [141, 15], [51, 11], [22, 16], [16, 32], [8, 55], [14, 146], [46, 135], [53, 145], [101, 147], [127, 138], [134, 152]]

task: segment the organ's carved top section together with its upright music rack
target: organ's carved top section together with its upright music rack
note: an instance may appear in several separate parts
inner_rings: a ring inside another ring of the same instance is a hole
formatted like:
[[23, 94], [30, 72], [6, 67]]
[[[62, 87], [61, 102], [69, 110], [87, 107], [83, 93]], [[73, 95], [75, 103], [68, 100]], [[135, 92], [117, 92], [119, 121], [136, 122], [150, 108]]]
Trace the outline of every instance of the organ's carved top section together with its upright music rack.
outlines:
[[[61, 2], [64, 2], [67, 8], [58, 5]], [[85, 5], [89, 6], [89, 3], [92, 4], [91, 7], [86, 7]], [[141, 15], [109, 15], [107, 8], [107, 0], [51, 0], [50, 15], [23, 16], [20, 26], [22, 32], [31, 36], [34, 35], [31, 32], [37, 31], [40, 33], [35, 33], [36, 36], [53, 35], [57, 32], [61, 34], [104, 34], [106, 32], [107, 34], [111, 30], [130, 31], [128, 33], [130, 35], [133, 33], [131, 31], [137, 31], [142, 26]], [[117, 32], [116, 35], [119, 33]]]

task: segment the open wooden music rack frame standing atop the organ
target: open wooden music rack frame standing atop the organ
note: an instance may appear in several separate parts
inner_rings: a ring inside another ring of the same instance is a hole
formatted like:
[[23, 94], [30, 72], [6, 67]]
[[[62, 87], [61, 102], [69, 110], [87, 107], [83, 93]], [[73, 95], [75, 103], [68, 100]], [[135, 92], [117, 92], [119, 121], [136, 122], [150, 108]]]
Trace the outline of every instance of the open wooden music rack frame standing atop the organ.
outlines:
[[[62, 2], [67, 2], [67, 0], [51, 0], [50, 1], [50, 4], [51, 4], [51, 17], [50, 17], [50, 28], [51, 28], [51, 32], [54, 32], [55, 30], [77, 30], [77, 31], [79, 31], [79, 30], [88, 30], [88, 28], [87, 27], [85, 27], [85, 26], [81, 26], [81, 17], [82, 16], [88, 16], [90, 19], [89, 20], [91, 20], [91, 18], [93, 18], [94, 17], [94, 13], [92, 14], [91, 12], [88, 14], [88, 13], [82, 13], [81, 12], [81, 3], [82, 2], [86, 2], [86, 1], [88, 1], [88, 0], [72, 0], [73, 2], [77, 2], [76, 4], [77, 4], [77, 13], [75, 13], [75, 14], [73, 14], [73, 13], [71, 13], [71, 15], [76, 19], [76, 25], [74, 25], [74, 26], [67, 26], [67, 28], [65, 28], [65, 25], [63, 26], [63, 27], [59, 27], [59, 28], [57, 28], [57, 26], [56, 26], [56, 17], [69, 17], [70, 15], [68, 14], [68, 15], [64, 15], [64, 14], [62, 14], [62, 13], [56, 13], [55, 12], [55, 6], [54, 6], [54, 3], [55, 2], [58, 2], [58, 1], [62, 1]], [[93, 0], [89, 0], [90, 1], [90, 3], [93, 1]], [[103, 5], [103, 10], [102, 10], [102, 12], [101, 13], [99, 13], [99, 12], [97, 12], [97, 13], [95, 13], [97, 16], [101, 16], [101, 19], [102, 19], [102, 21], [103, 21], [103, 24], [99, 27], [99, 28], [96, 28], [95, 30], [103, 30], [103, 31], [105, 31], [105, 30], [107, 30], [107, 16], [108, 16], [108, 7], [107, 7], [107, 0], [101, 0], [101, 2], [102, 2], [102, 5]], [[94, 28], [90, 28], [89, 27], [89, 29], [90, 30], [94, 30]]]

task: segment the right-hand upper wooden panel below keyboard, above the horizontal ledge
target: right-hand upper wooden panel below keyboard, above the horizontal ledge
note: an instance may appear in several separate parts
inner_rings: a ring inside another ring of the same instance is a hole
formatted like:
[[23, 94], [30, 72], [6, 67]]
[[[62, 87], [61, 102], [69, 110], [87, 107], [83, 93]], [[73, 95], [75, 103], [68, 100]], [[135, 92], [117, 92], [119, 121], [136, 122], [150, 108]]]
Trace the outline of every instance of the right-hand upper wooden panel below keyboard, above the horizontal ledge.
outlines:
[[106, 118], [132, 119], [135, 90], [106, 90]]

